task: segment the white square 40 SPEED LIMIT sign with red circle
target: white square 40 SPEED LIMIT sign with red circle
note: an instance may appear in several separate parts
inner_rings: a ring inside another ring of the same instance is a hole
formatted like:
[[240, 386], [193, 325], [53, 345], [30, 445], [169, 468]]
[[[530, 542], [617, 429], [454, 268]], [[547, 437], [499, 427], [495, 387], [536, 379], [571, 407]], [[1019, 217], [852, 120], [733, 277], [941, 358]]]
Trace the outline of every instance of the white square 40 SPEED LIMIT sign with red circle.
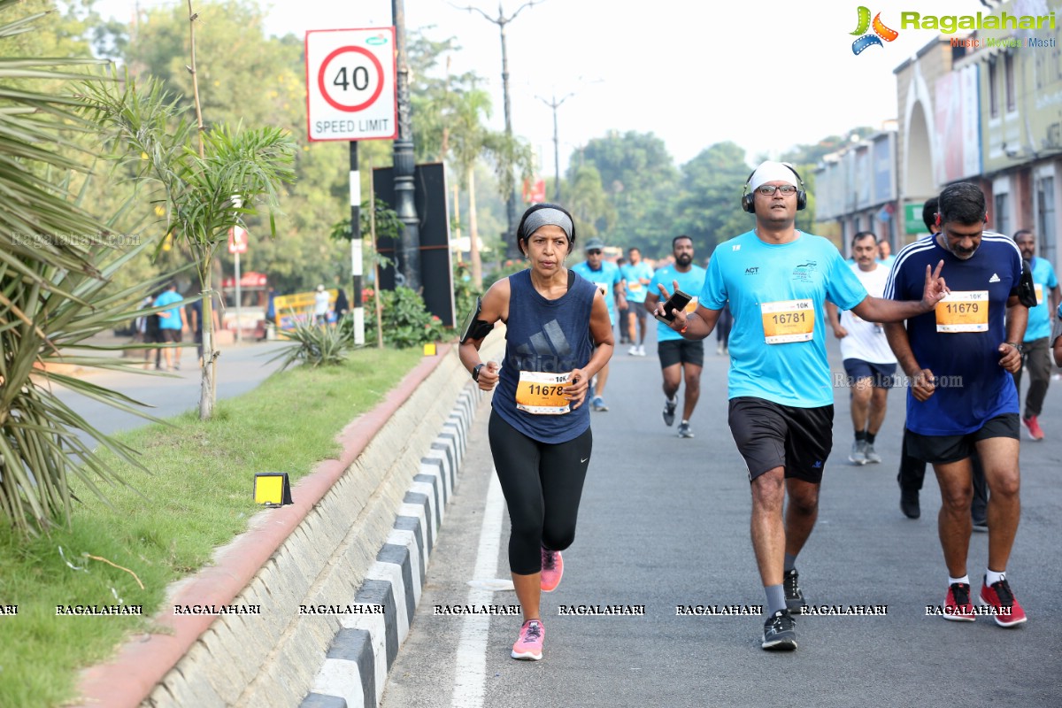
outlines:
[[310, 140], [387, 140], [398, 135], [394, 28], [306, 33]]

